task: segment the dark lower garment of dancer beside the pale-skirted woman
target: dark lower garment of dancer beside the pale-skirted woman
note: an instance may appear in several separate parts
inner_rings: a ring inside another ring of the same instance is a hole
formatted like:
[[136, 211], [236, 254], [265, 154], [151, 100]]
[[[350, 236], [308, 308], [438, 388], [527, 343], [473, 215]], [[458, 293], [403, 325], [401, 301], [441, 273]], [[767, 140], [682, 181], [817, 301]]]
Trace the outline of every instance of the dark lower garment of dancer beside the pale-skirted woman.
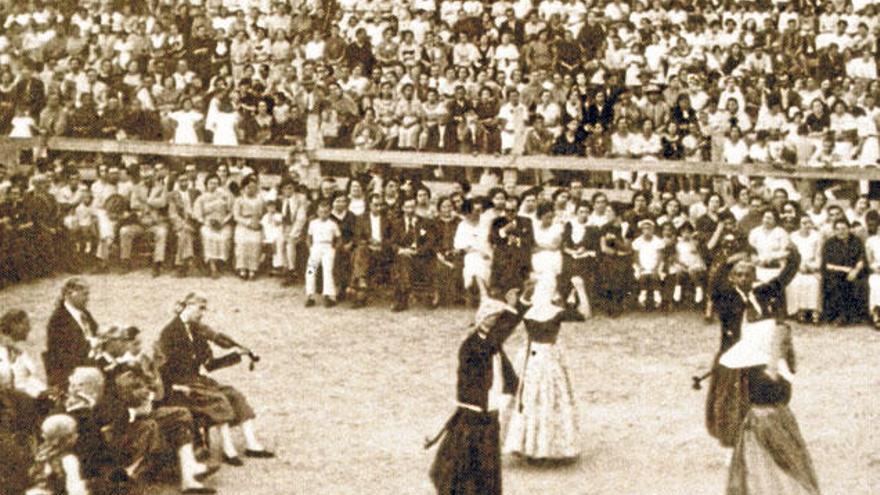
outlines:
[[431, 465], [437, 494], [500, 495], [499, 442], [497, 413], [459, 409]]

